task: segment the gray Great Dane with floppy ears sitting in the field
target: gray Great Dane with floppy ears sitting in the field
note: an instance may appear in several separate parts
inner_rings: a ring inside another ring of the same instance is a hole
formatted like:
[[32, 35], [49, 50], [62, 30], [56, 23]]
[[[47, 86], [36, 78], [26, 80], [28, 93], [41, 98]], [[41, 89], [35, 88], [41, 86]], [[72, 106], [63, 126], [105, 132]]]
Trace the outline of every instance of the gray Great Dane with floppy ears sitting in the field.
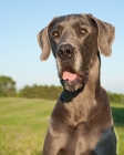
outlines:
[[43, 155], [116, 155], [101, 58], [110, 56], [114, 27], [92, 14], [54, 18], [38, 34], [41, 60], [52, 50], [63, 92], [51, 114]]

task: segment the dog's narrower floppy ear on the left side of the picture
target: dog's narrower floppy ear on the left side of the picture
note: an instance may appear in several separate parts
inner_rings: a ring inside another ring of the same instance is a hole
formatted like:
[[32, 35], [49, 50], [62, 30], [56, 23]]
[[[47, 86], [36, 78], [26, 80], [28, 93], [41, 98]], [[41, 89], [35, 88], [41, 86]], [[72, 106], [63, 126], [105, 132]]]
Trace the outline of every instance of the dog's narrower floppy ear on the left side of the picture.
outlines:
[[48, 27], [45, 27], [42, 31], [38, 33], [38, 42], [42, 50], [42, 54], [40, 59], [41, 61], [44, 61], [49, 58], [50, 52], [51, 52], [51, 46], [50, 46], [49, 38], [48, 38]]

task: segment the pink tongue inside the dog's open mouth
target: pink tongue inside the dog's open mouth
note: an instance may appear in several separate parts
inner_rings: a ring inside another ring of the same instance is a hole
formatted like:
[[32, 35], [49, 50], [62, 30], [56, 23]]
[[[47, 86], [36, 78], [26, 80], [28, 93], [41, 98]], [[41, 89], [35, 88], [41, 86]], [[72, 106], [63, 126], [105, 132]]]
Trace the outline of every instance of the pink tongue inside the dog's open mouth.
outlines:
[[73, 81], [76, 76], [78, 76], [78, 74], [64, 71], [63, 75], [62, 75], [62, 79]]

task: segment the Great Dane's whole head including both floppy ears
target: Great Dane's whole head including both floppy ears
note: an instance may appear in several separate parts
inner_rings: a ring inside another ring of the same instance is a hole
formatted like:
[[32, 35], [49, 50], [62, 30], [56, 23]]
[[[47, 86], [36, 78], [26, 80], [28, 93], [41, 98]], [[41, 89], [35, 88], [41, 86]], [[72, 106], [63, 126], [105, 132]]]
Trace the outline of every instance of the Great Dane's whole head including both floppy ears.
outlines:
[[59, 78], [69, 91], [76, 91], [85, 85], [97, 51], [110, 56], [113, 40], [114, 27], [92, 14], [54, 18], [38, 34], [42, 49], [41, 60], [46, 60], [52, 50]]

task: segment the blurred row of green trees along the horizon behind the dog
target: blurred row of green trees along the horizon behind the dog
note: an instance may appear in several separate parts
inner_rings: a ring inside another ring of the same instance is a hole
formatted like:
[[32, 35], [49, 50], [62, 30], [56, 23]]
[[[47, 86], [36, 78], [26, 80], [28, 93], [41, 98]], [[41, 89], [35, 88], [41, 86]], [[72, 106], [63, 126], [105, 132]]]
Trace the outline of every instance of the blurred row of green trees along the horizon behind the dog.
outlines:
[[[10, 76], [0, 75], [0, 96], [20, 96], [28, 99], [56, 100], [62, 92], [62, 86], [54, 85], [25, 85], [17, 91], [16, 82]], [[124, 94], [107, 92], [111, 102], [124, 102]]]

